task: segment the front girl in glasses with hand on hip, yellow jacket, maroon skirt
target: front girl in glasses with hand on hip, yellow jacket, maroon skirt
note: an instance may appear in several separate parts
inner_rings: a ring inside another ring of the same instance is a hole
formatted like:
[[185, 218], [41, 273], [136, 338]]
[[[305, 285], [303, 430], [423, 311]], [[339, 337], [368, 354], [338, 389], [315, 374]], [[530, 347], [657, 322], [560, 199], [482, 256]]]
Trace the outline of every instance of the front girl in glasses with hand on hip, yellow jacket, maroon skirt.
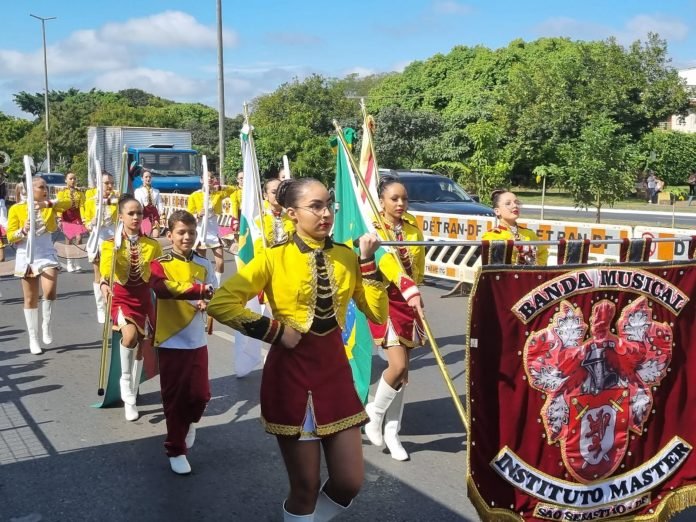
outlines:
[[[360, 238], [360, 260], [334, 244], [331, 198], [315, 179], [284, 181], [277, 199], [296, 233], [228, 279], [208, 313], [272, 344], [261, 381], [261, 418], [277, 438], [290, 480], [284, 520], [324, 521], [350, 506], [363, 481], [360, 426], [367, 415], [341, 327], [351, 298], [373, 321], [386, 320], [387, 296], [374, 261], [379, 240]], [[273, 318], [245, 309], [261, 290]], [[330, 470], [322, 487], [320, 447]]]

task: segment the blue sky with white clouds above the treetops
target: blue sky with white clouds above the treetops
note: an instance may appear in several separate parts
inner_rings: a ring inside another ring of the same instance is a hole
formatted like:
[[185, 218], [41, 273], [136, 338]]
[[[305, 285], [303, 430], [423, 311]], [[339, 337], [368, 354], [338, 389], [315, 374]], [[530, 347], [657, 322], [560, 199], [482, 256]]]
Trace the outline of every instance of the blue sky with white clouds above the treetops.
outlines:
[[[49, 88], [139, 87], [177, 101], [217, 103], [215, 0], [0, 0], [0, 111], [12, 94]], [[604, 39], [628, 44], [656, 31], [673, 65], [696, 66], [696, 0], [223, 0], [226, 112], [311, 73], [401, 70], [455, 45], [497, 48], [515, 38]]]

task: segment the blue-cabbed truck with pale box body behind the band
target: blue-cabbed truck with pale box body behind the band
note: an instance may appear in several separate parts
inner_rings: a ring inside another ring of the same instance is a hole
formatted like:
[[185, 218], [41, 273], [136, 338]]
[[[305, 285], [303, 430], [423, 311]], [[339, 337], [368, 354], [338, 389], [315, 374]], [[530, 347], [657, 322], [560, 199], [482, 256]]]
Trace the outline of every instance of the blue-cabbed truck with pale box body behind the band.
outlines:
[[[135, 174], [133, 188], [142, 185], [140, 166], [152, 172], [152, 186], [161, 192], [190, 194], [201, 188], [200, 160], [191, 146], [191, 132], [183, 129], [152, 127], [89, 127], [88, 147], [94, 148], [102, 170], [121, 174], [123, 147], [128, 152], [128, 168]], [[89, 162], [90, 186], [96, 183], [94, 166]], [[118, 185], [117, 185], [118, 186]]]

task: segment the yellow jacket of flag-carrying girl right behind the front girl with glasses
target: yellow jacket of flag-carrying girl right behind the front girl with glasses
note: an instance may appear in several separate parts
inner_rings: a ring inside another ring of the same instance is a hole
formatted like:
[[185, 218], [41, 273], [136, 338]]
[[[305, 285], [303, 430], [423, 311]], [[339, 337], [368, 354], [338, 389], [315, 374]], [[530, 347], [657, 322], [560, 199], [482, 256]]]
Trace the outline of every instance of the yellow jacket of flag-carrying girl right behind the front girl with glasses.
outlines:
[[[377, 235], [383, 241], [395, 239], [396, 234], [393, 227], [385, 222], [385, 226], [390, 231], [388, 234], [379, 223], [374, 223]], [[416, 220], [410, 214], [404, 214], [402, 218], [401, 235], [404, 241], [423, 241], [423, 232], [416, 225]], [[391, 236], [391, 237], [390, 237]], [[399, 255], [401, 263], [396, 256]], [[404, 271], [402, 266], [406, 269]], [[384, 277], [399, 289], [408, 301], [415, 295], [420, 294], [419, 284], [423, 283], [425, 273], [425, 247], [407, 246], [393, 248], [391, 252], [383, 255], [379, 260], [379, 271]]]

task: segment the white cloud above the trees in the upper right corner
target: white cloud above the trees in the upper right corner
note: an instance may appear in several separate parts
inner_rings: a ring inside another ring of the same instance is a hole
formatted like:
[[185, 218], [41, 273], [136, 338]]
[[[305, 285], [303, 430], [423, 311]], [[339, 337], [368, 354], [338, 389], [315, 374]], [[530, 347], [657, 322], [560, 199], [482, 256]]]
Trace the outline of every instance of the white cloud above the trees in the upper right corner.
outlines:
[[689, 28], [677, 18], [642, 14], [630, 18], [623, 27], [618, 28], [575, 18], [549, 18], [536, 27], [536, 32], [542, 36], [566, 36], [582, 40], [613, 36], [618, 42], [626, 45], [635, 40], [645, 39], [649, 32], [658, 33], [666, 40], [684, 40]]

